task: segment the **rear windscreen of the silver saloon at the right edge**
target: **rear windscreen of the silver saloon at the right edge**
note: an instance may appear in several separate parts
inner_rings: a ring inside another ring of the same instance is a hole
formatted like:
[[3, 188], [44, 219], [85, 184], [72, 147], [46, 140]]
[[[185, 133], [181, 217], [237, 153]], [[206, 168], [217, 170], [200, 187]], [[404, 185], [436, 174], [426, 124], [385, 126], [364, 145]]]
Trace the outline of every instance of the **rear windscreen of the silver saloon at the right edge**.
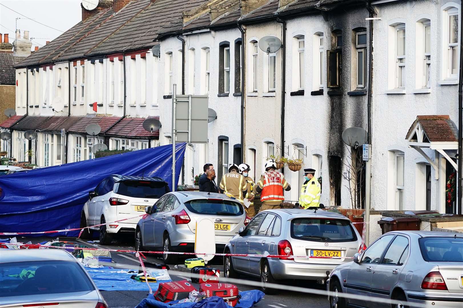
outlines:
[[463, 238], [422, 237], [419, 248], [428, 262], [463, 262]]

